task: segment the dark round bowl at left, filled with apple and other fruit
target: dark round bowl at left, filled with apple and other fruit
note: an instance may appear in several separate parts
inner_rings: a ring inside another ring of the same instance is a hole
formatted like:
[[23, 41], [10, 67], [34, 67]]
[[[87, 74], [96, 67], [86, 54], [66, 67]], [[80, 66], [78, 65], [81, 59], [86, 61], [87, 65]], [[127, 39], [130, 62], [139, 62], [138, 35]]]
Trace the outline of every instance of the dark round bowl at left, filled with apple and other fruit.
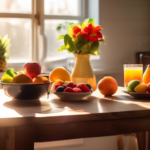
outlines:
[[44, 84], [16, 84], [0, 82], [4, 93], [18, 100], [40, 99], [49, 94], [51, 83]]

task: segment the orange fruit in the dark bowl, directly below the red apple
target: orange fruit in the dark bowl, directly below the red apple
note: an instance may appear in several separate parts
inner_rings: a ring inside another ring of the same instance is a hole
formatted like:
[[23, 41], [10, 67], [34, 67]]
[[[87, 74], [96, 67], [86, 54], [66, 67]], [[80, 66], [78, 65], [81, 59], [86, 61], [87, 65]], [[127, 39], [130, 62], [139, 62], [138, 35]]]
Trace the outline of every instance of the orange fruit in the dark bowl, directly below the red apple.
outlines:
[[12, 83], [32, 83], [32, 78], [24, 73], [21, 73], [13, 77]]

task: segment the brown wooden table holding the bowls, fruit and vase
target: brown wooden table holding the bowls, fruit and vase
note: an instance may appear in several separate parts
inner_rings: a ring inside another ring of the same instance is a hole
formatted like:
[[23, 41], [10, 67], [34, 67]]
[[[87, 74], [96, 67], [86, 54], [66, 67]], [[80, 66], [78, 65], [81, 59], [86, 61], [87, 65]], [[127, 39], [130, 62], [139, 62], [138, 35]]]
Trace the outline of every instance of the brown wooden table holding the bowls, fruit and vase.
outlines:
[[150, 101], [136, 100], [123, 89], [112, 97], [95, 91], [84, 101], [61, 101], [51, 95], [52, 109], [42, 113], [14, 110], [0, 90], [0, 150], [33, 150], [34, 142], [150, 130]]

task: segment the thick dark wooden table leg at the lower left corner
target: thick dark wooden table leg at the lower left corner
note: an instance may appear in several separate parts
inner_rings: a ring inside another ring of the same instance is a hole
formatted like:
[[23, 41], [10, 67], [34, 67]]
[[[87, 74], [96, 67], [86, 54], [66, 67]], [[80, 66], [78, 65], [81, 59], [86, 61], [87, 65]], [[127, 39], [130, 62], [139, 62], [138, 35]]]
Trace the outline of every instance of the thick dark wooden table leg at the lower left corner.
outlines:
[[34, 150], [34, 127], [0, 128], [0, 150]]

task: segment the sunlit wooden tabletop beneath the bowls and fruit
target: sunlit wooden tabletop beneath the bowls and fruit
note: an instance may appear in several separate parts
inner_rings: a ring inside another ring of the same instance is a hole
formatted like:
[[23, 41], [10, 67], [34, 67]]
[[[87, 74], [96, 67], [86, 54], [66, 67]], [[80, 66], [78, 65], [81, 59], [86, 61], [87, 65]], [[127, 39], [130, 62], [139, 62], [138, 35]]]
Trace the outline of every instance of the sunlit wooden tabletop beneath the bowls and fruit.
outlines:
[[[81, 101], [62, 101], [53, 94], [48, 100], [12, 100], [0, 90], [0, 126], [21, 125], [23, 120], [28, 120], [27, 124], [54, 124], [150, 117], [150, 99], [135, 99], [123, 90], [119, 87], [113, 96], [106, 97], [97, 90]], [[41, 101], [52, 109], [41, 112]]]

